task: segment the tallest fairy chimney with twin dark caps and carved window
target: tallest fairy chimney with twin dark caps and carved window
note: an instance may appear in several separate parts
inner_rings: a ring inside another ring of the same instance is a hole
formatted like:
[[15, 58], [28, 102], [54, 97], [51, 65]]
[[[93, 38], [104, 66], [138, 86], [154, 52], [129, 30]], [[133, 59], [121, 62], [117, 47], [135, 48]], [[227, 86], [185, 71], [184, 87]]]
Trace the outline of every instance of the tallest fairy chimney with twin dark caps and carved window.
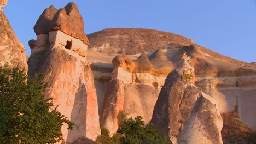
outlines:
[[[63, 10], [69, 14], [68, 17], [59, 15]], [[36, 44], [34, 40], [30, 41], [32, 46], [28, 75], [33, 77], [36, 73], [44, 74], [44, 81], [49, 83], [45, 97], [53, 98], [54, 105], [58, 106], [57, 110], [75, 124], [73, 130], [67, 130], [67, 125], [63, 125], [63, 142], [71, 143], [83, 136], [95, 140], [101, 131], [94, 77], [86, 60], [88, 45], [83, 41], [86, 39], [84, 31], [79, 33], [84, 33], [82, 35], [85, 37], [76, 35], [80, 38], [77, 39], [73, 27], [79, 24], [77, 30], [84, 29], [83, 19], [74, 3], [69, 3], [56, 14], [53, 11], [56, 11], [53, 6], [44, 10], [34, 26], [37, 40]], [[54, 18], [49, 22], [51, 17]], [[68, 18], [74, 21], [69, 21]], [[45, 33], [45, 29], [40, 28], [56, 22], [60, 22], [57, 25], [59, 29], [55, 27], [56, 29]], [[72, 41], [71, 50], [65, 48], [67, 41]]]

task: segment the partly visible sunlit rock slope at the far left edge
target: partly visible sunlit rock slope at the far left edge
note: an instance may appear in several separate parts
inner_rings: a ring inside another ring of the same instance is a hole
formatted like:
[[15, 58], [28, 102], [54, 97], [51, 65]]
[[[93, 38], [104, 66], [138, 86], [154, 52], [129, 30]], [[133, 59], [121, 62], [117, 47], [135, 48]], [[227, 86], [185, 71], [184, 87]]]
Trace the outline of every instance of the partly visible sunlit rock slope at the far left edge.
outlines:
[[[7, 0], [0, 1], [0, 8], [7, 4]], [[0, 9], [0, 66], [19, 67], [27, 72], [27, 62], [25, 57], [26, 49], [16, 37], [13, 28]]]

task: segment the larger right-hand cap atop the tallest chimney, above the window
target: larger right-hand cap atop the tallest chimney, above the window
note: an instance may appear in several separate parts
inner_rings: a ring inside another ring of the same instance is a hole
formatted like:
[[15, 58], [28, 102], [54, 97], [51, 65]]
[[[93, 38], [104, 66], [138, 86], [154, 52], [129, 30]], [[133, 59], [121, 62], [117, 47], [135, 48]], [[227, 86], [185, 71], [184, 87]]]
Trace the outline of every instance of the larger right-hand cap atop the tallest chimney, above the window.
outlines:
[[84, 21], [79, 13], [77, 5], [68, 3], [64, 8], [59, 9], [54, 15], [49, 31], [62, 31], [74, 38], [80, 39], [84, 44], [89, 45], [88, 38], [84, 32]]

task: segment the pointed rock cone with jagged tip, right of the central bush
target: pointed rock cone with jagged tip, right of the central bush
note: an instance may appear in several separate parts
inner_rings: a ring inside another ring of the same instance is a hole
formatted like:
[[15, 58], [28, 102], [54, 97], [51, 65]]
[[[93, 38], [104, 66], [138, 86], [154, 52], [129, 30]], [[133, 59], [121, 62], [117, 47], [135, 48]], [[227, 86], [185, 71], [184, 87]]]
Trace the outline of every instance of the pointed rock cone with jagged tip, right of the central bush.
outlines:
[[186, 53], [167, 76], [156, 101], [152, 122], [173, 143], [222, 143], [218, 104], [194, 85]]

